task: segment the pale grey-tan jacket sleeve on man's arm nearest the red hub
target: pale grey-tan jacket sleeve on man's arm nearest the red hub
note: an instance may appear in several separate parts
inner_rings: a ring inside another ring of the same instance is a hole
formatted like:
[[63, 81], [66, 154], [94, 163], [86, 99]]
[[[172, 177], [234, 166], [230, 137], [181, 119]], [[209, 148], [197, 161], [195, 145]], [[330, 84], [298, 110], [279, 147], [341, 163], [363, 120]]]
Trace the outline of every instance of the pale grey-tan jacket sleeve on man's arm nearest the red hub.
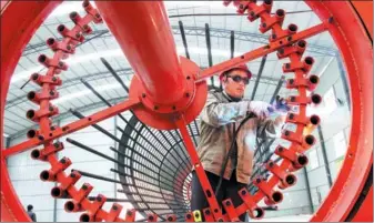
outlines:
[[247, 111], [249, 101], [222, 103], [212, 93], [209, 93], [200, 116], [206, 124], [219, 128], [243, 120]]

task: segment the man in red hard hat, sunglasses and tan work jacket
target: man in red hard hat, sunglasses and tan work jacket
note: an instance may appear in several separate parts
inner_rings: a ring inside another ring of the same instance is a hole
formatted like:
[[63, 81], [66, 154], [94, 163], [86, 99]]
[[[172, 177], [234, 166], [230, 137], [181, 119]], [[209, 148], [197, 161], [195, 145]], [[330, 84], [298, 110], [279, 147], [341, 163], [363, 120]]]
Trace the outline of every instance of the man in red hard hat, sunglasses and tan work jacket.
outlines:
[[[220, 81], [223, 90], [209, 92], [200, 114], [198, 154], [221, 207], [222, 201], [229, 197], [235, 207], [242, 204], [237, 191], [250, 183], [256, 136], [279, 132], [285, 120], [285, 111], [289, 110], [284, 103], [283, 107], [274, 107], [266, 102], [243, 99], [251, 77], [246, 65], [222, 72]], [[234, 135], [241, 122], [250, 114], [253, 118], [246, 119], [237, 135]], [[228, 158], [230, 148], [233, 148], [233, 151]], [[225, 159], [229, 160], [224, 166]], [[216, 191], [220, 175], [221, 185]], [[199, 210], [203, 213], [202, 210], [209, 207], [209, 203], [194, 170], [191, 190], [191, 211]], [[225, 213], [225, 210], [222, 212]], [[240, 220], [244, 222], [245, 214], [242, 214]]]

